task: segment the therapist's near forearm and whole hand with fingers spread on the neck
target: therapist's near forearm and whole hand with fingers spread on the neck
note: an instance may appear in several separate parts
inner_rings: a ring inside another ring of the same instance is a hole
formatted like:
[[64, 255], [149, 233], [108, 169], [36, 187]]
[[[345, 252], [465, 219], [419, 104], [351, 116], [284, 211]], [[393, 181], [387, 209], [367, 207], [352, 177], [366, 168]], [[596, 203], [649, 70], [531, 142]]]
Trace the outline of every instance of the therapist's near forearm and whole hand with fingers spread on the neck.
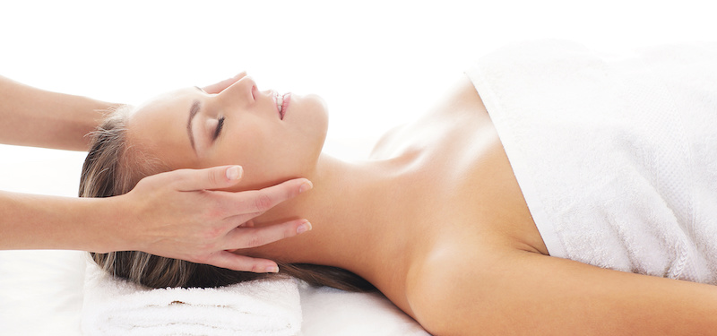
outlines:
[[297, 178], [256, 191], [212, 191], [240, 177], [228, 167], [182, 169], [145, 177], [131, 192], [108, 198], [0, 192], [0, 249], [138, 250], [238, 271], [276, 271], [272, 261], [227, 250], [310, 229], [307, 220], [240, 226], [311, 184]]

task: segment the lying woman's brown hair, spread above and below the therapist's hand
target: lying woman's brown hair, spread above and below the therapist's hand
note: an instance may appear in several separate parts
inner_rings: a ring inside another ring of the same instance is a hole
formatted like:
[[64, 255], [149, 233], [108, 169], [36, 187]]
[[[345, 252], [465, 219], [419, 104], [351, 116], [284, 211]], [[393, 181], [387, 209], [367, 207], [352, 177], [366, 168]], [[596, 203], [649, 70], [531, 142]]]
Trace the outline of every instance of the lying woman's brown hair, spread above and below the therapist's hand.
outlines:
[[[108, 118], [91, 134], [90, 152], [82, 166], [80, 197], [126, 194], [143, 177], [169, 170], [160, 159], [127, 144], [126, 120], [131, 110], [129, 106], [123, 106], [110, 111]], [[242, 281], [289, 275], [305, 280], [312, 286], [329, 286], [350, 291], [376, 289], [367, 280], [350, 271], [313, 264], [279, 263], [279, 274], [267, 274], [232, 271], [141, 251], [91, 253], [91, 258], [104, 271], [150, 288], [220, 287]]]

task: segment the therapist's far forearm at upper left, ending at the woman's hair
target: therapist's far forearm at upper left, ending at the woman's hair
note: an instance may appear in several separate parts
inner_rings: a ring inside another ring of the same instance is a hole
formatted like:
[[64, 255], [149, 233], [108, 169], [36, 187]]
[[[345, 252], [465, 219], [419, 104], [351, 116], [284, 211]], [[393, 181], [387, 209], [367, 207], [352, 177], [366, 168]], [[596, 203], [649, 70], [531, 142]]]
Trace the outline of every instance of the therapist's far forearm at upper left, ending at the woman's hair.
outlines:
[[0, 76], [0, 143], [87, 151], [112, 104], [39, 90]]

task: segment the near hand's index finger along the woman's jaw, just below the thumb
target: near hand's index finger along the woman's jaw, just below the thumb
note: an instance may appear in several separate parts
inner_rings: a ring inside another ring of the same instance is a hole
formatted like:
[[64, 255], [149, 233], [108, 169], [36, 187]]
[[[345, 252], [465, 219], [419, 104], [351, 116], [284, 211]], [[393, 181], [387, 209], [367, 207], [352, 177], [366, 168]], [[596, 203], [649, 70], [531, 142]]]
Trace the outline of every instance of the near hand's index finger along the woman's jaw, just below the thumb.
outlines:
[[[272, 185], [260, 190], [248, 190], [238, 193], [226, 192], [223, 195], [232, 202], [232, 207], [229, 210], [233, 210], [232, 215], [253, 214], [252, 217], [255, 217], [264, 211], [272, 209], [276, 204], [296, 197], [313, 187], [314, 185], [311, 184], [311, 181], [306, 178], [294, 178], [279, 185]], [[246, 220], [249, 219], [247, 218]], [[246, 220], [241, 220], [241, 222]]]

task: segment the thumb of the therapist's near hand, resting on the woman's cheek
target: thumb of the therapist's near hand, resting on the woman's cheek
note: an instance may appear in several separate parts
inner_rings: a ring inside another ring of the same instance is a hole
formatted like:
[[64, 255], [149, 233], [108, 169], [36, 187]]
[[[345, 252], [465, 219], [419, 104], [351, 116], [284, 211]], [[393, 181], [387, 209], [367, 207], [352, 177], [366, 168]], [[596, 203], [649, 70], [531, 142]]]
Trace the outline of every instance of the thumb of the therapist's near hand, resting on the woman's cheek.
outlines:
[[182, 173], [175, 180], [179, 191], [212, 190], [236, 185], [244, 175], [241, 166], [220, 166], [204, 169], [181, 169], [171, 173]]

